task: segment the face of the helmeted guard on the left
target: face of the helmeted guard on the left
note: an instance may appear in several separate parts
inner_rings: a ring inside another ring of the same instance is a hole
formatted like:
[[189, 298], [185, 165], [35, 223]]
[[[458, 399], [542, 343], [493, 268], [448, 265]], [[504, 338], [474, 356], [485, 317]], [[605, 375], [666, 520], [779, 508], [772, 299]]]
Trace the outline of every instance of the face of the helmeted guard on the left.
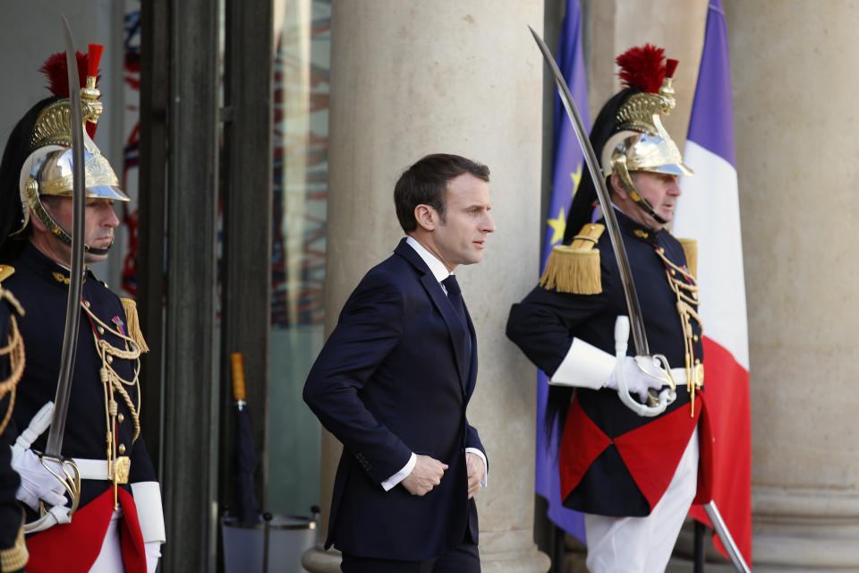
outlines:
[[[85, 229], [83, 232], [83, 241], [89, 247], [94, 249], [106, 249], [114, 242], [114, 229], [119, 225], [119, 219], [114, 213], [114, 200], [112, 199], [97, 199], [87, 197], [86, 205], [86, 220]], [[63, 227], [69, 234], [72, 234], [72, 198], [62, 197], [44, 201], [45, 210], [54, 218], [56, 223]], [[59, 239], [52, 242], [55, 244], [54, 253], [61, 257], [55, 258], [56, 261], [64, 261], [63, 264], [68, 265], [72, 261], [72, 249], [69, 245], [64, 244]], [[87, 252], [84, 255], [84, 261], [96, 262], [103, 261], [107, 258], [107, 253], [96, 254]]]

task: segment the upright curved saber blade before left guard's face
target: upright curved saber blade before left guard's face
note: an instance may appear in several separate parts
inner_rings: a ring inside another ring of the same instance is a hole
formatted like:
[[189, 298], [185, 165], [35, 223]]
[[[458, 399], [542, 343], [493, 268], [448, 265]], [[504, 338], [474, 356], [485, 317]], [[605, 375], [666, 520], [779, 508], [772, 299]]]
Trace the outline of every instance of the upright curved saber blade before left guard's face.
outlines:
[[65, 63], [69, 69], [69, 108], [72, 129], [72, 274], [69, 284], [69, 298], [65, 309], [65, 330], [63, 352], [60, 355], [60, 372], [56, 381], [54, 417], [47, 434], [45, 454], [61, 458], [65, 419], [69, 413], [69, 395], [72, 391], [72, 371], [74, 370], [75, 349], [78, 345], [78, 327], [81, 322], [81, 290], [83, 286], [83, 227], [84, 195], [86, 193], [83, 164], [83, 119], [81, 116], [81, 82], [78, 78], [78, 62], [75, 57], [72, 30], [65, 16], [63, 31], [65, 36]]

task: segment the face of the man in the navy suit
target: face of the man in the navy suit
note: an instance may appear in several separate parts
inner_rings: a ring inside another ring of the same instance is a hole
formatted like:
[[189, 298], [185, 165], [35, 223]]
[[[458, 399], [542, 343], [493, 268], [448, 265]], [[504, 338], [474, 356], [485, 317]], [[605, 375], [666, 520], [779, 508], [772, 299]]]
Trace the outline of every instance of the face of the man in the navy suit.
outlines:
[[447, 182], [445, 220], [433, 231], [436, 254], [447, 269], [483, 259], [486, 236], [495, 231], [489, 216], [489, 185], [470, 173]]

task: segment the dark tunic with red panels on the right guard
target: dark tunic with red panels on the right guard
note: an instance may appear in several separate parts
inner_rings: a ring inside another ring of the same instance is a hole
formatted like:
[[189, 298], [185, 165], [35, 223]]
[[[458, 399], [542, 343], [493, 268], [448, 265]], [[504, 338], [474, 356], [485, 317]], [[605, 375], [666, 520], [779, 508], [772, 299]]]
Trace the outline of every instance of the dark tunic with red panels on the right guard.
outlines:
[[[683, 322], [677, 297], [668, 283], [669, 261], [685, 267], [681, 244], [667, 231], [654, 232], [616, 210], [617, 222], [642, 308], [651, 355], [662, 354], [672, 368], [685, 366]], [[574, 338], [615, 354], [615, 321], [628, 315], [617, 260], [608, 233], [600, 235], [602, 292], [575, 295], [537, 286], [514, 304], [507, 337], [549, 377], [557, 371]], [[702, 359], [701, 331], [693, 322], [694, 356]], [[627, 354], [634, 355], [633, 341]], [[577, 388], [559, 451], [564, 505], [605, 516], [646, 516], [668, 487], [701, 414], [703, 400], [691, 415], [685, 380], [666, 411], [648, 418], [621, 403], [612, 389]], [[704, 444], [702, 441], [702, 448]], [[702, 450], [702, 458], [709, 453]]]

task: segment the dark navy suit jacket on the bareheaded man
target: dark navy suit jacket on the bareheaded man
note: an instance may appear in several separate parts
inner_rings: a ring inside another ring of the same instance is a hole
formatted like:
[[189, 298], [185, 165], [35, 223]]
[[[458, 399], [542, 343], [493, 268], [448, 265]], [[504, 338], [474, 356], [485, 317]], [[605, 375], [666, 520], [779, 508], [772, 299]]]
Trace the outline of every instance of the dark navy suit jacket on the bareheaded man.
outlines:
[[[477, 543], [465, 448], [484, 450], [465, 418], [477, 376], [466, 318], [405, 240], [346, 301], [304, 386], [304, 400], [344, 445], [326, 548], [426, 560]], [[449, 466], [441, 483], [424, 496], [402, 484], [385, 492], [381, 483], [412, 452]]]

